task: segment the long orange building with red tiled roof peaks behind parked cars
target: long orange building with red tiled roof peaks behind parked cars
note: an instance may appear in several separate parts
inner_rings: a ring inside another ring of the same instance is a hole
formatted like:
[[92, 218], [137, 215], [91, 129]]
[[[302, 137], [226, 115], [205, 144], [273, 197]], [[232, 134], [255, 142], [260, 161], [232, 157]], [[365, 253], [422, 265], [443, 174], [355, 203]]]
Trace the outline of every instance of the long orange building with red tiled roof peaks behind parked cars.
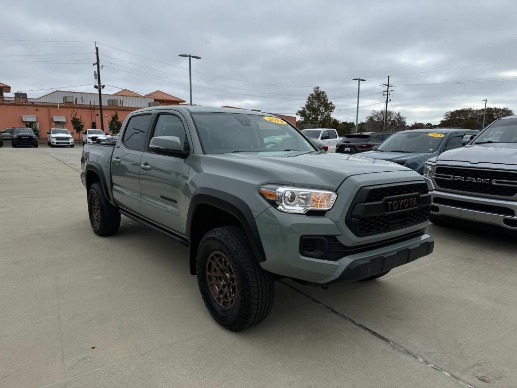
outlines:
[[[28, 98], [26, 93], [10, 93], [11, 87], [0, 82], [0, 130], [8, 127], [32, 127], [39, 130], [41, 139], [47, 137], [50, 128], [67, 128], [75, 139], [71, 118], [77, 114], [84, 123], [84, 129], [100, 129], [101, 120], [104, 130], [108, 131], [111, 116], [117, 112], [118, 120], [124, 121], [134, 110], [164, 105], [184, 105], [185, 100], [162, 91], [141, 95], [128, 89], [113, 94], [102, 95], [102, 117], [99, 112], [98, 93], [54, 91], [38, 98]], [[279, 115], [296, 125], [296, 117]]]

